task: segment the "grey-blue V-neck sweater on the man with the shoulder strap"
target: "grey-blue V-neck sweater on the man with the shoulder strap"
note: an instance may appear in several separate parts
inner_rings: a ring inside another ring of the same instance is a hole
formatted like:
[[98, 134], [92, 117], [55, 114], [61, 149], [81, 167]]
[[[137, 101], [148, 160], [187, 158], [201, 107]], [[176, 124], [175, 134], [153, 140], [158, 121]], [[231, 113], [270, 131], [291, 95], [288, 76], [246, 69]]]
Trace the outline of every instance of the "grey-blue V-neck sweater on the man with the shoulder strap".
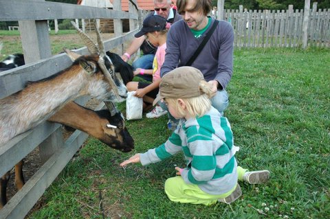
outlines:
[[[161, 69], [161, 76], [176, 67], [184, 66], [195, 53], [195, 50], [212, 27], [199, 38], [195, 38], [184, 20], [175, 22], [167, 34], [167, 49], [165, 62]], [[234, 49], [234, 30], [226, 21], [220, 21], [208, 43], [201, 50], [192, 67], [203, 73], [206, 81], [217, 80], [223, 89], [232, 78], [232, 59]]]

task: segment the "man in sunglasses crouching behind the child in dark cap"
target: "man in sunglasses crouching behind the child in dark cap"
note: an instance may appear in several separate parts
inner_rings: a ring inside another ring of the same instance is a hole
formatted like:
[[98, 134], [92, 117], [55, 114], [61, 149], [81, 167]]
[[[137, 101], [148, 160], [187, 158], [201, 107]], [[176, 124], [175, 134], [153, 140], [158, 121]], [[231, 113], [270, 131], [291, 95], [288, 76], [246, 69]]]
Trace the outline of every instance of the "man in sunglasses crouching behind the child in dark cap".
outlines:
[[[177, 11], [171, 7], [170, 0], [154, 0], [154, 4], [155, 11], [148, 14], [148, 16], [153, 14], [162, 16], [167, 19], [168, 23], [174, 23], [182, 19], [181, 16], [177, 14]], [[125, 53], [122, 55], [122, 60], [127, 62], [131, 55], [135, 54], [139, 47], [143, 51], [144, 56], [141, 56], [138, 60], [133, 62], [133, 69], [153, 69], [153, 58], [155, 57], [157, 48], [146, 41], [145, 36], [140, 36], [139, 38], [135, 38], [133, 40], [129, 48], [126, 49]], [[146, 80], [152, 80], [152, 77], [141, 77]]]

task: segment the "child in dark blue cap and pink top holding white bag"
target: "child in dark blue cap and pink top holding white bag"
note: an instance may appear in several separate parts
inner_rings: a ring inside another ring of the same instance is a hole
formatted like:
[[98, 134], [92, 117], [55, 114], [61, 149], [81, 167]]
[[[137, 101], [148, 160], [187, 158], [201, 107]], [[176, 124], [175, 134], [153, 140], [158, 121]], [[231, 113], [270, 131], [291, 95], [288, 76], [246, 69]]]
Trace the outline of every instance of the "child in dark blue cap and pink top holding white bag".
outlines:
[[[126, 84], [128, 91], [135, 91], [136, 97], [143, 98], [144, 111], [152, 106], [153, 100], [155, 100], [159, 91], [160, 67], [162, 67], [165, 60], [166, 33], [166, 19], [162, 16], [152, 15], [144, 19], [142, 29], [135, 34], [136, 38], [145, 35], [147, 41], [158, 47], [153, 60], [153, 69], [138, 68], [133, 72], [134, 76], [138, 74], [152, 75], [153, 82], [151, 84], [148, 82], [129, 82]], [[166, 115], [166, 113], [167, 111], [164, 111], [160, 106], [156, 106], [153, 111], [146, 113], [146, 117], [155, 118]]]

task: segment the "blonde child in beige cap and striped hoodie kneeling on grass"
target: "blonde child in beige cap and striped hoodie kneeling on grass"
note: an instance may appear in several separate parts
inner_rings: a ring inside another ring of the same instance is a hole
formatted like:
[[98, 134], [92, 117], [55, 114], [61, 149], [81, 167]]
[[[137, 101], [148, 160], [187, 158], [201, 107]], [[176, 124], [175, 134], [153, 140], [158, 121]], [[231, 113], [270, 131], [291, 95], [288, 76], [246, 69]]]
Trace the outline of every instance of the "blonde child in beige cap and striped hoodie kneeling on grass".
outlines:
[[270, 177], [267, 170], [248, 172], [237, 167], [234, 155], [239, 148], [234, 146], [228, 119], [211, 106], [209, 86], [194, 67], [167, 73], [153, 103], [163, 100], [169, 113], [181, 119], [181, 125], [162, 146], [120, 163], [148, 165], [182, 150], [186, 168], [176, 167], [179, 176], [165, 182], [165, 192], [173, 202], [212, 205], [219, 200], [230, 204], [241, 196], [238, 179], [257, 184]]

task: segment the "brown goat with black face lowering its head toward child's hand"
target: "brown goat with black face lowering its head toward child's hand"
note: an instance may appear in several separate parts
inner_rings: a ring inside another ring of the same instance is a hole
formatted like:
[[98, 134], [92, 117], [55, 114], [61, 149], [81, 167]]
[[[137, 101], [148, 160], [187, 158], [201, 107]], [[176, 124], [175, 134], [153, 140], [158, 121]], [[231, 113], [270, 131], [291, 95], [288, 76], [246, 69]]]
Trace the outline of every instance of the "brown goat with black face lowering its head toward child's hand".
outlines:
[[[47, 121], [82, 130], [111, 148], [130, 152], [134, 148], [134, 140], [125, 127], [121, 113], [116, 111], [110, 102], [106, 103], [106, 106], [109, 111], [92, 111], [75, 102], [69, 102]], [[117, 128], [107, 128], [109, 124]], [[25, 184], [22, 168], [23, 160], [15, 165], [15, 184], [18, 189], [21, 189]], [[6, 189], [9, 179], [10, 172], [0, 178], [0, 209], [7, 203]]]

